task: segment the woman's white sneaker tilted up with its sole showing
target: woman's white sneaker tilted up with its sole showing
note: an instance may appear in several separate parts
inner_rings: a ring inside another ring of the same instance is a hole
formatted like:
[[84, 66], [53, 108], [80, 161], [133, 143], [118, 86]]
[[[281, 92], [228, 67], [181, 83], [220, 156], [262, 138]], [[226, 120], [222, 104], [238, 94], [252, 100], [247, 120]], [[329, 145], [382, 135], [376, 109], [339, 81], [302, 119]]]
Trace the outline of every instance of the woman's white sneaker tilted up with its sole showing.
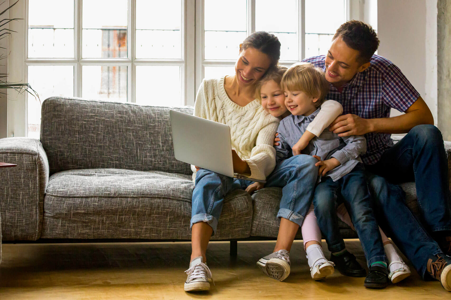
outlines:
[[257, 265], [267, 276], [282, 281], [290, 275], [290, 254], [282, 249], [262, 257]]

